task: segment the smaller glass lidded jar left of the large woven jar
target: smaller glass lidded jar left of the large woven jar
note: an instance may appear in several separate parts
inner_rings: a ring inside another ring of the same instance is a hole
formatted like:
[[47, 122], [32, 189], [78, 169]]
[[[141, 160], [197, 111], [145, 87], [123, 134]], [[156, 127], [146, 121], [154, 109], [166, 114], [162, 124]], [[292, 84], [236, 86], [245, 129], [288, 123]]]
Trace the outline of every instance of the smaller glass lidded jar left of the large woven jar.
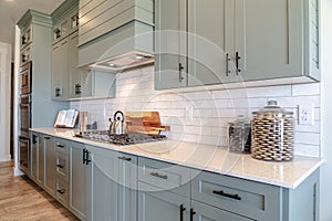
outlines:
[[239, 115], [235, 122], [228, 123], [230, 151], [250, 154], [251, 150], [250, 119]]

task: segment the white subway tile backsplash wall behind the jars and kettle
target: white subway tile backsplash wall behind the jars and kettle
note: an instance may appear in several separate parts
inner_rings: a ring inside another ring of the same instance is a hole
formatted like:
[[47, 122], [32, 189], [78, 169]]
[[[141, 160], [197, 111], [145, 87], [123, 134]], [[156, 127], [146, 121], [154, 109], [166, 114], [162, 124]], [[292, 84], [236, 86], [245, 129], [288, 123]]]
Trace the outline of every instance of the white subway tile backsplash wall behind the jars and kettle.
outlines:
[[71, 107], [90, 113], [90, 123], [106, 129], [115, 110], [158, 110], [163, 125], [170, 126], [172, 139], [226, 147], [227, 126], [236, 116], [251, 112], [276, 98], [298, 116], [298, 105], [312, 105], [314, 124], [295, 125], [295, 154], [320, 157], [320, 84], [214, 90], [154, 91], [154, 70], [145, 67], [118, 74], [116, 98], [72, 102]]

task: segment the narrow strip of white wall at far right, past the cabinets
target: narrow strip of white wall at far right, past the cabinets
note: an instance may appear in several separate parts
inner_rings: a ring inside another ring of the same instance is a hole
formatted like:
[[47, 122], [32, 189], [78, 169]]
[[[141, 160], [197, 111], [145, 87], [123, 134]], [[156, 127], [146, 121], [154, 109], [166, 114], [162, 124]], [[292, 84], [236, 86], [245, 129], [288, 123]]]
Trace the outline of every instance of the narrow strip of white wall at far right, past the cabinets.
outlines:
[[321, 168], [321, 221], [332, 220], [331, 199], [332, 199], [332, 1], [321, 1], [322, 11], [322, 155], [325, 164]]

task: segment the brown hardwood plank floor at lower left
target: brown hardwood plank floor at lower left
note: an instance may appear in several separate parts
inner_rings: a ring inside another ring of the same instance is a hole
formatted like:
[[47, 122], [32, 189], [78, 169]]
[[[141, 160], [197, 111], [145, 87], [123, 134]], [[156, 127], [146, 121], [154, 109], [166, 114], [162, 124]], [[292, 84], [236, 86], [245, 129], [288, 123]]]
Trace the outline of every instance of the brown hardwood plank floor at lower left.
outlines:
[[77, 220], [28, 177], [14, 177], [12, 162], [0, 162], [0, 221]]

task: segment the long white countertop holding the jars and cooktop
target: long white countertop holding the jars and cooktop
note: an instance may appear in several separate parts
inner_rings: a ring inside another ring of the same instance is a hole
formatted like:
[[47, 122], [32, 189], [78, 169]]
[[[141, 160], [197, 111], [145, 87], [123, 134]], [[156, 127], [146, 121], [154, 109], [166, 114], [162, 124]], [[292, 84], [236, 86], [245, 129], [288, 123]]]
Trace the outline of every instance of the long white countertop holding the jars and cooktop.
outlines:
[[75, 130], [72, 129], [33, 128], [31, 130], [101, 148], [120, 150], [284, 188], [297, 188], [323, 162], [323, 159], [320, 158], [302, 156], [295, 156], [292, 161], [284, 162], [262, 161], [251, 158], [250, 155], [230, 152], [217, 146], [176, 140], [120, 146], [73, 137]]

